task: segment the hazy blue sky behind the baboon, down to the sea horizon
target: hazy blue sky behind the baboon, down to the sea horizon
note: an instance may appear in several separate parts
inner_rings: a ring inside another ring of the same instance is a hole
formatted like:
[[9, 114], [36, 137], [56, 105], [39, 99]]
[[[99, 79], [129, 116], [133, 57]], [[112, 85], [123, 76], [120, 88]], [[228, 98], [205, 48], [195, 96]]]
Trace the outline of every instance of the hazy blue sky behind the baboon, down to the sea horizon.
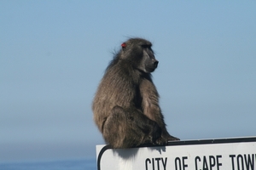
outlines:
[[95, 158], [91, 111], [127, 37], [154, 43], [168, 131], [255, 136], [255, 1], [0, 1], [0, 161]]

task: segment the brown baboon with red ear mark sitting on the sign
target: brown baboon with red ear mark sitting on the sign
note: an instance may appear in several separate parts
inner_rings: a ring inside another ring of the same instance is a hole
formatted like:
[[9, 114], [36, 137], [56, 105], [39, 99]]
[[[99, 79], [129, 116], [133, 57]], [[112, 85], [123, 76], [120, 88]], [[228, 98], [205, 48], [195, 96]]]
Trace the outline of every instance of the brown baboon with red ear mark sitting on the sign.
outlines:
[[166, 131], [159, 94], [151, 79], [158, 60], [151, 42], [131, 38], [108, 65], [92, 110], [105, 141], [113, 148], [163, 145], [179, 140]]

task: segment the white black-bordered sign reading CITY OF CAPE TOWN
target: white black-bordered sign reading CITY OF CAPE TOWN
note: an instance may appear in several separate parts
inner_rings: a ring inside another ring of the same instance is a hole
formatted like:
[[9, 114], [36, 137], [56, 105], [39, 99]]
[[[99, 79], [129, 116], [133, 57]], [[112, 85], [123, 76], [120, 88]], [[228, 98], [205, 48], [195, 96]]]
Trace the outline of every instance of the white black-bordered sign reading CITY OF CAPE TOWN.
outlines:
[[256, 170], [256, 137], [110, 149], [97, 145], [98, 170]]

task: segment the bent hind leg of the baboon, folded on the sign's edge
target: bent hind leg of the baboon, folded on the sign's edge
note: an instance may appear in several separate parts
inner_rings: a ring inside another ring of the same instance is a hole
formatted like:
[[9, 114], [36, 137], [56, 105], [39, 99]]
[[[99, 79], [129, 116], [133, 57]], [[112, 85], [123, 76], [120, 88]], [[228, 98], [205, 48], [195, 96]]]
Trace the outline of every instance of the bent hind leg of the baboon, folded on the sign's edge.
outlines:
[[104, 127], [103, 137], [113, 148], [130, 148], [141, 144], [153, 144], [160, 138], [161, 129], [136, 109], [125, 111], [113, 107]]

